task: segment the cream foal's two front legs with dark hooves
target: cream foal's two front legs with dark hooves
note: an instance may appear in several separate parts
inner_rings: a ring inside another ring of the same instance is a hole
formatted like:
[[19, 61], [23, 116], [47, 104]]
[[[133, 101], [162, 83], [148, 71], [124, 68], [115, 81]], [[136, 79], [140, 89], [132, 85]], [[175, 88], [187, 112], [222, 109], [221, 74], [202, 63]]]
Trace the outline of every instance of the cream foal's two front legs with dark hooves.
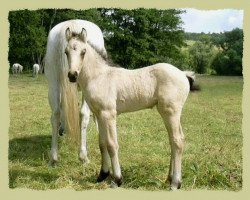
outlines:
[[118, 158], [118, 141], [116, 131], [116, 111], [102, 111], [97, 116], [99, 127], [99, 146], [102, 166], [97, 181], [103, 181], [109, 175], [109, 158], [113, 169], [115, 183], [122, 184], [121, 168]]

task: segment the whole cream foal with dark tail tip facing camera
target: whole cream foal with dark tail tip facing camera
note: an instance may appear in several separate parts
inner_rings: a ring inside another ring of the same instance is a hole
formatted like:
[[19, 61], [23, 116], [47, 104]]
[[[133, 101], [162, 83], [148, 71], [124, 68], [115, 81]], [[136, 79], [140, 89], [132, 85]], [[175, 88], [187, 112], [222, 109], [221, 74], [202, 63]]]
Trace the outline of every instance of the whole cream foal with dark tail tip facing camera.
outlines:
[[70, 82], [80, 85], [98, 121], [102, 164], [97, 181], [109, 176], [111, 160], [114, 181], [118, 186], [122, 183], [117, 115], [156, 106], [167, 128], [171, 145], [168, 180], [172, 190], [180, 188], [184, 148], [180, 119], [189, 91], [193, 89], [194, 73], [183, 72], [166, 63], [136, 70], [111, 67], [88, 44], [89, 34], [85, 29], [76, 34], [71, 27], [67, 28], [64, 37], [68, 45], [61, 51], [65, 51], [68, 58]]

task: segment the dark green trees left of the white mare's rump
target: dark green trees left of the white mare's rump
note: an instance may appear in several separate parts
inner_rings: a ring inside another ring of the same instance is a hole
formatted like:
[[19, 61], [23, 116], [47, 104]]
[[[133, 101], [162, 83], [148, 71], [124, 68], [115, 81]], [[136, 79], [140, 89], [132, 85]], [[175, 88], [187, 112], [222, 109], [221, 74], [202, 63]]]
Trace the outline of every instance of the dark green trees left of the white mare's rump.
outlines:
[[43, 12], [29, 10], [9, 13], [10, 39], [9, 62], [18, 62], [24, 70], [34, 63], [41, 64], [45, 52], [46, 32], [43, 27]]

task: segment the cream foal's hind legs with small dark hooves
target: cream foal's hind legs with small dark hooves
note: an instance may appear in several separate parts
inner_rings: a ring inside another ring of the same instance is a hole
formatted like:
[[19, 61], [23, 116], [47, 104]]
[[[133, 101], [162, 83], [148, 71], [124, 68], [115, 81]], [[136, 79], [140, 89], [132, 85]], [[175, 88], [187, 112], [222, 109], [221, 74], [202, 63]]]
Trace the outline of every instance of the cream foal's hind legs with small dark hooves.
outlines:
[[184, 150], [184, 134], [180, 123], [181, 110], [173, 104], [158, 104], [157, 108], [168, 130], [169, 143], [171, 146], [168, 180], [170, 181], [170, 189], [176, 190], [181, 187], [181, 160]]

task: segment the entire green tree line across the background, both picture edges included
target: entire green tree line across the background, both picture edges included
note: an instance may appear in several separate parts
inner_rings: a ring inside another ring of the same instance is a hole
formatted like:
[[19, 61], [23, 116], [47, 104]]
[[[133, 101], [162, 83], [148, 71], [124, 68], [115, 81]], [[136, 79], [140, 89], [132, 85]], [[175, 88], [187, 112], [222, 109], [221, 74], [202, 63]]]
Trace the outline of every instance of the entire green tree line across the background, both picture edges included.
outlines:
[[51, 28], [65, 20], [85, 19], [101, 28], [108, 56], [122, 67], [135, 69], [167, 62], [198, 73], [241, 75], [243, 31], [185, 33], [182, 12], [144, 8], [10, 11], [9, 63], [18, 62], [25, 71], [34, 63], [43, 67]]

